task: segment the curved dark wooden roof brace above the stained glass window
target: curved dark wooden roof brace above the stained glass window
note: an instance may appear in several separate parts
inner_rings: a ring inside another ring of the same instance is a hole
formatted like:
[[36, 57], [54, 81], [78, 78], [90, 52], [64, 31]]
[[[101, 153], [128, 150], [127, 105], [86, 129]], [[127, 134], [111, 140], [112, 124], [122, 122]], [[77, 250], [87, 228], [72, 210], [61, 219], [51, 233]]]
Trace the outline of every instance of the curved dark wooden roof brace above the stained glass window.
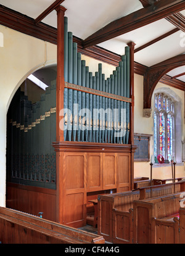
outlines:
[[[185, 65], [185, 54], [172, 57], [146, 69], [144, 73], [144, 109], [151, 109], [152, 94], [162, 76], [166, 75], [170, 70], [183, 65]], [[146, 112], [149, 113], [148, 110]]]

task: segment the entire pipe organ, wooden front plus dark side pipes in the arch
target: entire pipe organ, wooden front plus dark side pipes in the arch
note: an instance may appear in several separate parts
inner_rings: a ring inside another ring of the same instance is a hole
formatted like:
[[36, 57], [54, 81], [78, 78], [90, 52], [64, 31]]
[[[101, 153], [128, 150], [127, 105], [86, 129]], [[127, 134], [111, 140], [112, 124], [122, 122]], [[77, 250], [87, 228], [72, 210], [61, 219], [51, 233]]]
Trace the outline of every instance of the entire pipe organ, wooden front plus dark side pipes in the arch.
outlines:
[[7, 181], [46, 188], [55, 200], [52, 220], [78, 228], [86, 225], [89, 200], [133, 189], [134, 43], [109, 78], [101, 64], [92, 75], [68, 31], [65, 8], [56, 10], [57, 83], [35, 105], [16, 94], [22, 114], [9, 109]]

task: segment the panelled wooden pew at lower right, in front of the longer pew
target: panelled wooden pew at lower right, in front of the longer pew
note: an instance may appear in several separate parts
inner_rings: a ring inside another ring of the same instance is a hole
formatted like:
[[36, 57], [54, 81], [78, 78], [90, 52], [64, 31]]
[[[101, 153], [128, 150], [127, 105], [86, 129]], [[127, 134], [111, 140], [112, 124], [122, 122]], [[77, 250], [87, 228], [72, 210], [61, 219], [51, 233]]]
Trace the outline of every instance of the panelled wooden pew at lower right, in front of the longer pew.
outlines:
[[137, 244], [178, 242], [181, 192], [133, 202], [133, 242]]

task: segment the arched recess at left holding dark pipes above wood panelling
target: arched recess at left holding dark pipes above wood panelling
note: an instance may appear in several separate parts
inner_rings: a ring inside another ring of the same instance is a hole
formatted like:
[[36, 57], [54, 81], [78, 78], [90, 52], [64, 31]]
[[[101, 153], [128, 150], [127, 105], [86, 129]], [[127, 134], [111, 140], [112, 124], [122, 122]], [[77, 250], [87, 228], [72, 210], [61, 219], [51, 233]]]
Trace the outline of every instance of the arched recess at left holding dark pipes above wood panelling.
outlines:
[[[55, 221], [56, 65], [17, 89], [7, 112], [6, 207]], [[41, 82], [46, 88], [41, 88]], [[51, 210], [52, 209], [52, 210]]]

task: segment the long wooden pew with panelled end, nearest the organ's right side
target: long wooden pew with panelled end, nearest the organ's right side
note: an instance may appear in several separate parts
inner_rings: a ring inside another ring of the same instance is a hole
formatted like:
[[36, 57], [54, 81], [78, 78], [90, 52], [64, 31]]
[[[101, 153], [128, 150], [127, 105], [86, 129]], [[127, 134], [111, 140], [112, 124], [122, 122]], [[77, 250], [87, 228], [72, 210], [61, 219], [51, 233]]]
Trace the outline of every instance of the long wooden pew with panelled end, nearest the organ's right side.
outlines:
[[[175, 191], [185, 191], [185, 182], [175, 183]], [[152, 189], [152, 190], [151, 190]], [[151, 193], [152, 191], [152, 193]], [[131, 243], [133, 240], [133, 201], [163, 196], [174, 192], [174, 184], [162, 184], [134, 191], [99, 195], [97, 233], [106, 241]], [[124, 237], [124, 238], [123, 238]]]

